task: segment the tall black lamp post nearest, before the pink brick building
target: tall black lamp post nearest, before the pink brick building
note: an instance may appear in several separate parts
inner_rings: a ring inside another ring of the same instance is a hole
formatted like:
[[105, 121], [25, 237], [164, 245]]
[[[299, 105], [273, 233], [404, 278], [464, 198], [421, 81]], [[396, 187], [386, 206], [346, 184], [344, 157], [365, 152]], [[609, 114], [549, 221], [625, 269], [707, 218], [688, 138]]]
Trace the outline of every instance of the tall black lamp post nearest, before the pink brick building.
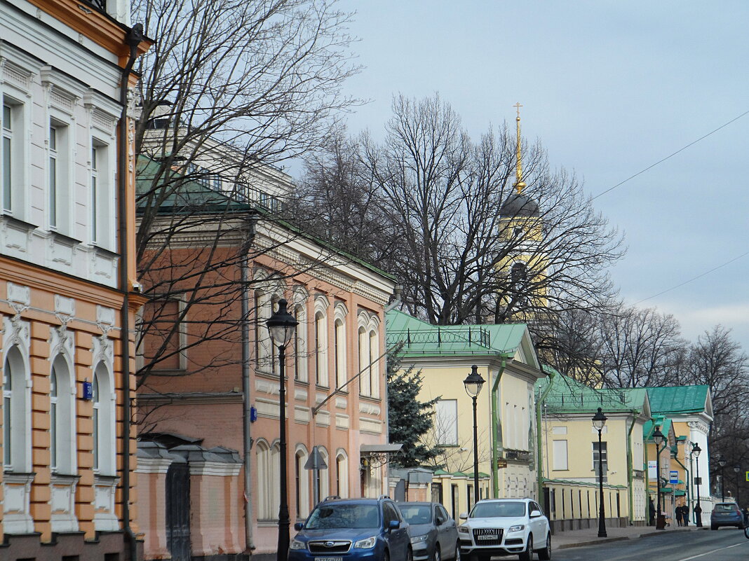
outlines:
[[279, 349], [279, 433], [280, 433], [280, 463], [281, 463], [281, 504], [279, 506], [279, 541], [278, 561], [288, 559], [288, 527], [290, 525], [288, 516], [288, 466], [286, 465], [286, 382], [285, 382], [285, 360], [286, 346], [294, 337], [294, 331], [299, 325], [294, 316], [286, 310], [287, 302], [282, 298], [279, 300], [279, 309], [270, 316], [266, 325], [270, 331], [270, 339]]

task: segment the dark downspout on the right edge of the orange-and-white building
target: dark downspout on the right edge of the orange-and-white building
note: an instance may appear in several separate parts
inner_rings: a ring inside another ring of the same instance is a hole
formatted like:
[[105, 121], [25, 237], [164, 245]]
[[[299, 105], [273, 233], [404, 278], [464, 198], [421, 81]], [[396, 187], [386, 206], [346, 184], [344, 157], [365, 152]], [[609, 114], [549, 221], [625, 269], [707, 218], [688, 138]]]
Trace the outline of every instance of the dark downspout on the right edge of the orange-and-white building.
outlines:
[[[120, 250], [119, 285], [122, 292], [122, 308], [120, 310], [120, 337], [121, 337], [121, 386], [122, 386], [122, 523], [124, 525], [125, 539], [130, 546], [130, 561], [138, 559], [138, 539], [133, 528], [130, 526], [130, 430], [132, 423], [130, 415], [130, 286], [128, 270], [130, 255], [127, 251], [127, 147], [128, 147], [128, 123], [127, 123], [127, 85], [130, 81], [130, 72], [135, 64], [138, 46], [145, 40], [143, 26], [139, 23], [133, 25], [127, 32], [125, 43], [130, 47], [130, 57], [122, 70], [120, 82], [120, 104], [122, 113], [120, 116], [119, 129], [119, 157], [118, 157], [118, 241]], [[134, 209], [133, 209], [134, 210]], [[133, 272], [135, 274], [135, 272]]]

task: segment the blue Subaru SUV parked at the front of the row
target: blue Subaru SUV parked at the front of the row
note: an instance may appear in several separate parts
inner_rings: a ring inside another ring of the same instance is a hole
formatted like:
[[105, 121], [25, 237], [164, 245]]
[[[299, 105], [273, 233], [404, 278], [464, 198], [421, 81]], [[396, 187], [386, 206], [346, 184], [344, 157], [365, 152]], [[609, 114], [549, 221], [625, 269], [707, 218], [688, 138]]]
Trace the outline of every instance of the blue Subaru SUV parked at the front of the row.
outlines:
[[408, 523], [388, 497], [324, 500], [294, 529], [289, 561], [413, 561]]

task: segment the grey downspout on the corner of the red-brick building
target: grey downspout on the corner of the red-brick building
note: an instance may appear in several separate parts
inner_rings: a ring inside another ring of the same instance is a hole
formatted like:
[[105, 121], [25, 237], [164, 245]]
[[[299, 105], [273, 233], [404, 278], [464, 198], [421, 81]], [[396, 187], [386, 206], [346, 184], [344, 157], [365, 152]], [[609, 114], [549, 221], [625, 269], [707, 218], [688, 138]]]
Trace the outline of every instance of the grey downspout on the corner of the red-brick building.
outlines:
[[240, 268], [242, 272], [242, 441], [244, 455], [244, 543], [245, 552], [255, 550], [252, 535], [252, 423], [250, 422], [249, 383], [249, 246], [255, 237], [255, 219], [250, 218], [246, 240], [242, 248]]

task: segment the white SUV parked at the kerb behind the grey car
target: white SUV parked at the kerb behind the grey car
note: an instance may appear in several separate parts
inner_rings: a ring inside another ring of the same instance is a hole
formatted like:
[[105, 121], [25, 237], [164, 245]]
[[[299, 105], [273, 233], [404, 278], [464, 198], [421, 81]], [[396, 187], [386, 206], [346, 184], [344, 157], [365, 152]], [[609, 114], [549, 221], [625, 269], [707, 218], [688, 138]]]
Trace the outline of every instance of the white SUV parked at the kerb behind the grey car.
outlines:
[[461, 556], [467, 561], [489, 561], [492, 555], [519, 554], [530, 561], [551, 560], [549, 520], [533, 499], [479, 500], [458, 526]]

